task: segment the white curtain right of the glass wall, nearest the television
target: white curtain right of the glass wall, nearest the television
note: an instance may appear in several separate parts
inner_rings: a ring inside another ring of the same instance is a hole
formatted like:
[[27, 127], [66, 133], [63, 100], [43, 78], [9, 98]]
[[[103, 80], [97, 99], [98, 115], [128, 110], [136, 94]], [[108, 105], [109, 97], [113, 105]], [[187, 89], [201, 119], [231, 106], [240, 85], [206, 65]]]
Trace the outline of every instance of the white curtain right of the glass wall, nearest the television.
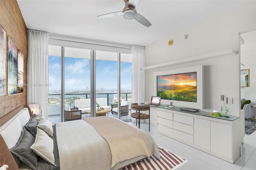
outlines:
[[132, 45], [132, 103], [145, 101], [145, 47]]

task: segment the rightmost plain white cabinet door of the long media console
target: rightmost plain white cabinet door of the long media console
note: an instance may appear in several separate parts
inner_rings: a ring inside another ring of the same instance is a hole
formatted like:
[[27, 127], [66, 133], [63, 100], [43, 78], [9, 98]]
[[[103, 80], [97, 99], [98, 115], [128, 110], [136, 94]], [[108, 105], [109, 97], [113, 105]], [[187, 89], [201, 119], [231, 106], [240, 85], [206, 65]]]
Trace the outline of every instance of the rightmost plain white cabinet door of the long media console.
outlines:
[[224, 123], [210, 122], [211, 151], [232, 159], [232, 127]]

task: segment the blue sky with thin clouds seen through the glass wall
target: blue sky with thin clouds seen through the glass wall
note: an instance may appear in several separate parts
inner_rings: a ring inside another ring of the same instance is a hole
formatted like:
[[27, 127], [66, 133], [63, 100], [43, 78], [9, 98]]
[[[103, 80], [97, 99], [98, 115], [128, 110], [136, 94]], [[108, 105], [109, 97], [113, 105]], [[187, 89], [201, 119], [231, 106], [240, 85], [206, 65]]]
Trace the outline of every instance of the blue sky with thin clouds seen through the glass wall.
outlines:
[[[51, 56], [50, 90], [61, 88], [61, 57]], [[65, 89], [90, 89], [90, 59], [65, 57]], [[96, 89], [117, 90], [117, 61], [96, 60]], [[121, 90], [132, 89], [132, 63], [121, 62]]]

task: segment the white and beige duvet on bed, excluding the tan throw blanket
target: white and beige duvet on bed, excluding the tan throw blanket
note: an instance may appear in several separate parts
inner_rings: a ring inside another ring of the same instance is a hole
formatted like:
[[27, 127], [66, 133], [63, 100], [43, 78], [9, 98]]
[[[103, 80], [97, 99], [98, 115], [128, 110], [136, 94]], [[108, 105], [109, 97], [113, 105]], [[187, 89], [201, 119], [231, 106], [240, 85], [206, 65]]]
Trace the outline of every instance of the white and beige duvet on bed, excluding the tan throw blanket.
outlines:
[[[153, 138], [150, 134], [140, 131], [146, 136], [151, 154], [160, 158]], [[144, 158], [138, 156], [110, 168], [112, 158], [108, 142], [84, 120], [56, 123], [56, 137], [61, 170], [116, 170]]]

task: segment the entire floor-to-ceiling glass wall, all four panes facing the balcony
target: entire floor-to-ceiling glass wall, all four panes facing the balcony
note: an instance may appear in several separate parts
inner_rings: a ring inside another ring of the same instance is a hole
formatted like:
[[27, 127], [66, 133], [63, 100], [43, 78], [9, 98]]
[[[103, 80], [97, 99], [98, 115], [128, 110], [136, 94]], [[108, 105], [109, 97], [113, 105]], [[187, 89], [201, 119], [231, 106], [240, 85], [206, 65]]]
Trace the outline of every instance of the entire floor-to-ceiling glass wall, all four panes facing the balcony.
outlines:
[[[95, 83], [91, 82], [91, 56], [92, 50], [63, 47], [64, 48], [64, 101], [61, 101], [61, 46], [49, 45], [49, 118], [52, 123], [60, 122], [61, 107], [70, 105], [74, 107], [75, 99], [87, 99], [91, 96], [91, 84], [95, 87], [96, 98], [107, 98], [108, 105], [117, 101], [118, 95], [118, 53], [108, 51], [96, 51], [95, 58]], [[131, 54], [121, 53], [120, 63], [120, 100], [131, 100]], [[130, 107], [129, 107], [130, 109]], [[111, 112], [107, 116], [117, 117]], [[82, 117], [90, 117], [83, 114]], [[122, 120], [130, 120], [129, 115], [121, 117]]]

